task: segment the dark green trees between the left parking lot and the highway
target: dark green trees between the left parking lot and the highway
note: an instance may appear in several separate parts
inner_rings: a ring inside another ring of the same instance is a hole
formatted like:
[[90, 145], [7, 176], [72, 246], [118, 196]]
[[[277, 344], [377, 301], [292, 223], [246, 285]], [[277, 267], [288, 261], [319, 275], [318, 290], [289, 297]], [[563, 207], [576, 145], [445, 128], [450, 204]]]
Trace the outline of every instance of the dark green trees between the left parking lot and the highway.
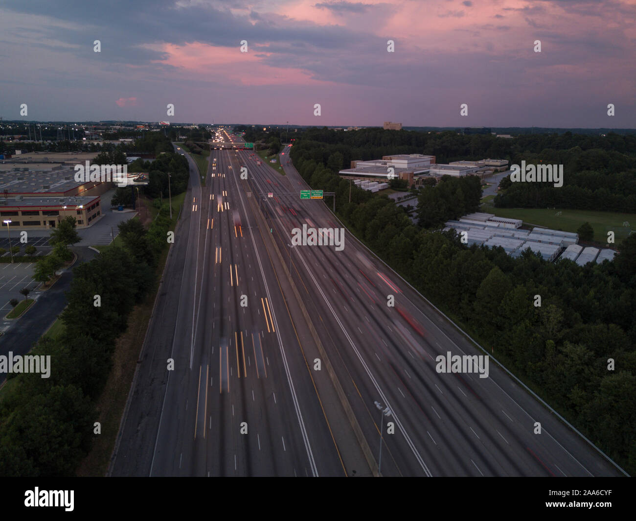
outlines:
[[[116, 338], [155, 282], [171, 224], [164, 204], [146, 231], [120, 224], [124, 247], [111, 246], [73, 270], [64, 332], [41, 339], [34, 355], [51, 356], [51, 375], [10, 375], [0, 401], [0, 476], [69, 476], [90, 450], [95, 403], [112, 366]], [[99, 306], [95, 306], [99, 295]]]

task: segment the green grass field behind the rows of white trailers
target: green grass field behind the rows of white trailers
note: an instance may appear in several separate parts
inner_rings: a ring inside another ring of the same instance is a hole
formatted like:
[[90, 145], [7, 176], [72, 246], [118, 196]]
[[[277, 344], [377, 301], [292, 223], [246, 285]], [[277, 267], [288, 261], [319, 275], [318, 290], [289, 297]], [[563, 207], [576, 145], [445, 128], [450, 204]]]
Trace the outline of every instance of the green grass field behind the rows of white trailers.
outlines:
[[[636, 226], [636, 214], [614, 213], [613, 211], [587, 210], [544, 210], [543, 208], [495, 208], [483, 204], [480, 211], [494, 213], [497, 217], [522, 219], [524, 224], [546, 226], [565, 232], [576, 232], [584, 222], [589, 222], [594, 229], [594, 241], [607, 242], [607, 232], [613, 231], [615, 241], [619, 243], [628, 236], [630, 229], [623, 227], [623, 222]], [[560, 215], [557, 215], [560, 212]]]

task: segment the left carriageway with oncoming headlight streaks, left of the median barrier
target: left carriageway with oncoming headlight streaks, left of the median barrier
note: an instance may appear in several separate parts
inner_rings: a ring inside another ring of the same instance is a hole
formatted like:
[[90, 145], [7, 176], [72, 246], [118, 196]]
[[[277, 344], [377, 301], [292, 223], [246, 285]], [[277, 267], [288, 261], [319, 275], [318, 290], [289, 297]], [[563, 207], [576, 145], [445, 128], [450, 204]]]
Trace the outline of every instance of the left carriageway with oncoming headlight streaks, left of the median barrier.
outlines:
[[205, 187], [189, 159], [187, 203], [109, 473], [370, 475], [333, 391], [314, 382], [303, 355], [312, 340], [283, 297], [289, 283], [233, 155], [212, 150]]

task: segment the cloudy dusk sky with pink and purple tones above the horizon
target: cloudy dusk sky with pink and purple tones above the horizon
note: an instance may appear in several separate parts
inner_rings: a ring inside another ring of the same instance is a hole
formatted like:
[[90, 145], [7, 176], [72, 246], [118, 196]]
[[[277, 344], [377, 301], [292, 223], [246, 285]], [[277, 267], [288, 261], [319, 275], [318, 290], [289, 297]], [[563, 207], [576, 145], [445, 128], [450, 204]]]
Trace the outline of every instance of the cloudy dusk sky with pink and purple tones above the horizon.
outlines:
[[634, 128], [636, 0], [3, 0], [0, 65], [6, 120]]

